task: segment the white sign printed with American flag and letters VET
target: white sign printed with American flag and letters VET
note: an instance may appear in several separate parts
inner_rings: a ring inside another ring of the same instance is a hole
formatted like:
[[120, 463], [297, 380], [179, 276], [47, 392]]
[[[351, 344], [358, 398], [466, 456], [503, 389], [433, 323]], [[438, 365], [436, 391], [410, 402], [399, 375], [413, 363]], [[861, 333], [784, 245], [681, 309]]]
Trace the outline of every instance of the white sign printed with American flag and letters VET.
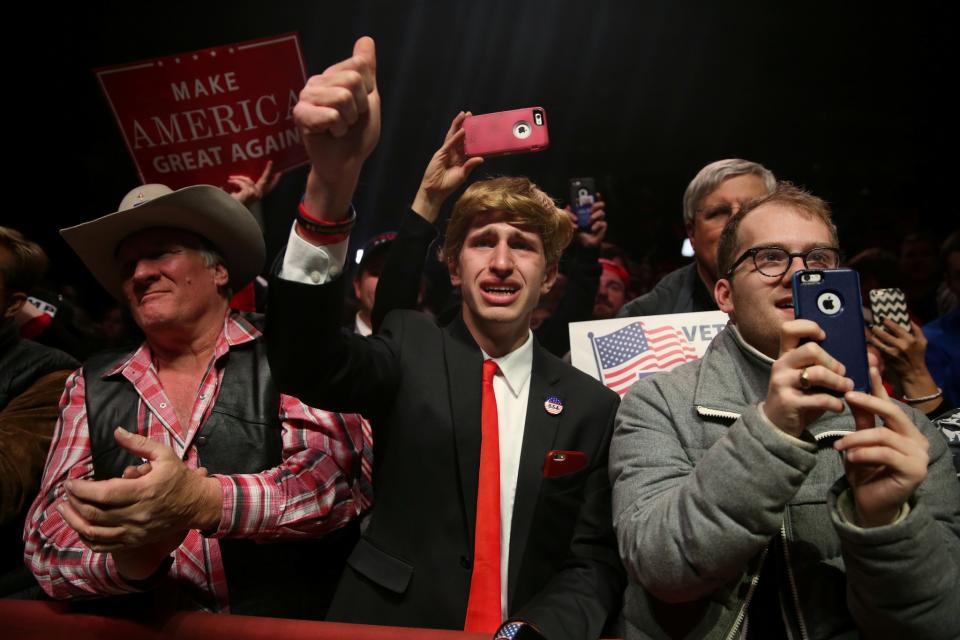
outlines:
[[726, 322], [707, 311], [571, 323], [571, 362], [622, 396], [645, 376], [703, 356]]

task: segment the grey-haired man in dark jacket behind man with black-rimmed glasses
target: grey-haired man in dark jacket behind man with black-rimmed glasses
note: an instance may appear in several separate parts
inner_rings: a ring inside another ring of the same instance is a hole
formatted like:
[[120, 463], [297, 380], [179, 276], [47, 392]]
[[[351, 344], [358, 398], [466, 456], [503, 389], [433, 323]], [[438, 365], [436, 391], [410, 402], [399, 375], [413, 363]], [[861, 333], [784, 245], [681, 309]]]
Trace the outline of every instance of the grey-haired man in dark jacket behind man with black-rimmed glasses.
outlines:
[[739, 158], [701, 169], [683, 194], [683, 225], [693, 245], [693, 262], [668, 273], [651, 291], [623, 305], [617, 316], [715, 311], [717, 241], [723, 225], [744, 202], [770, 193], [776, 183], [769, 169]]

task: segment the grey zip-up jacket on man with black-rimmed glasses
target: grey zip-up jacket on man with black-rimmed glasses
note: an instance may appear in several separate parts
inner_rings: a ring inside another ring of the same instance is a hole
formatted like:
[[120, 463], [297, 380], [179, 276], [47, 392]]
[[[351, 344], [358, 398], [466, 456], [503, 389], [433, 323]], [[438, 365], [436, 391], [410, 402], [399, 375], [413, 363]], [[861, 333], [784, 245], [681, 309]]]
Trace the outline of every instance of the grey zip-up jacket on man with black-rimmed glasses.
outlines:
[[771, 364], [728, 325], [701, 360], [623, 399], [610, 478], [626, 637], [738, 637], [771, 560], [791, 637], [960, 637], [960, 485], [943, 436], [906, 408], [930, 440], [928, 476], [905, 516], [861, 529], [837, 506], [849, 409], [786, 436], [757, 409]]

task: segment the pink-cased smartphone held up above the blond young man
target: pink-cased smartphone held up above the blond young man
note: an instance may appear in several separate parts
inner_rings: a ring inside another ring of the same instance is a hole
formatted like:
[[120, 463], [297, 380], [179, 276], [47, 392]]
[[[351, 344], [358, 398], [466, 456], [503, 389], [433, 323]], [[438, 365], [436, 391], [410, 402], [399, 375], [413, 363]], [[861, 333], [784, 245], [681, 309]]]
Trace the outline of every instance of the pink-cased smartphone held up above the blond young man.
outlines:
[[469, 116], [463, 121], [463, 151], [469, 157], [542, 151], [550, 146], [542, 107]]

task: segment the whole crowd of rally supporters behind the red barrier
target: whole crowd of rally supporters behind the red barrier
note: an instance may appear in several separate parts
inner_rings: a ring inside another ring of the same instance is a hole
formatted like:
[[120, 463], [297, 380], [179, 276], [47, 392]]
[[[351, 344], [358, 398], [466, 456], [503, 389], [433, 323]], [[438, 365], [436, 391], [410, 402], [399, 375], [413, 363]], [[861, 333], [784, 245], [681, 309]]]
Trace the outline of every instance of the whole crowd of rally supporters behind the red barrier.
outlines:
[[[453, 204], [431, 298], [440, 213], [484, 162], [470, 115], [352, 272], [370, 38], [300, 94], [310, 172], [266, 278], [269, 165], [64, 229], [117, 301], [99, 326], [0, 227], [0, 596], [521, 640], [960, 636], [960, 235], [844, 260], [821, 198], [718, 160], [683, 195], [693, 261], [638, 290], [602, 197], [578, 229], [498, 177]], [[795, 272], [846, 266], [866, 391], [794, 317]], [[869, 313], [893, 288], [905, 324]], [[622, 401], [568, 362], [571, 322], [713, 310], [706, 354]]]

